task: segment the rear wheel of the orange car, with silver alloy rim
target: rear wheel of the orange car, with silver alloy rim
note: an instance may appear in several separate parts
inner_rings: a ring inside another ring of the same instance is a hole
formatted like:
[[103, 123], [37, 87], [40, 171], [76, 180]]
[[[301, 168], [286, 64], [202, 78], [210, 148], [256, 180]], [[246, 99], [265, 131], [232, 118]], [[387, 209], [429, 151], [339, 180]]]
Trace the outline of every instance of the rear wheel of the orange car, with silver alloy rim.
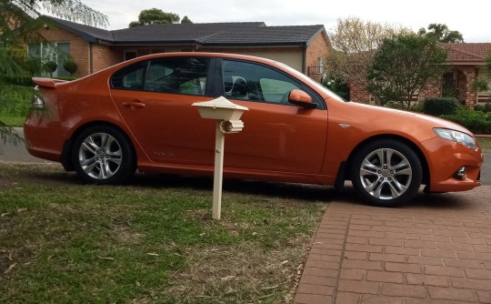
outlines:
[[93, 126], [74, 142], [75, 171], [91, 184], [121, 184], [135, 175], [136, 160], [129, 139], [115, 127]]

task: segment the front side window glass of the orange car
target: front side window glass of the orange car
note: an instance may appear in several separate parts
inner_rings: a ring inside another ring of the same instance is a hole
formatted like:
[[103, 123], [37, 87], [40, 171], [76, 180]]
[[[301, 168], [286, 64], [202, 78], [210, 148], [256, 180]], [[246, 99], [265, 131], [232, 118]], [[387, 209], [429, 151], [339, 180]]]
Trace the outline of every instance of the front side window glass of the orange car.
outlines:
[[287, 104], [287, 94], [301, 85], [276, 69], [252, 63], [224, 60], [226, 98]]

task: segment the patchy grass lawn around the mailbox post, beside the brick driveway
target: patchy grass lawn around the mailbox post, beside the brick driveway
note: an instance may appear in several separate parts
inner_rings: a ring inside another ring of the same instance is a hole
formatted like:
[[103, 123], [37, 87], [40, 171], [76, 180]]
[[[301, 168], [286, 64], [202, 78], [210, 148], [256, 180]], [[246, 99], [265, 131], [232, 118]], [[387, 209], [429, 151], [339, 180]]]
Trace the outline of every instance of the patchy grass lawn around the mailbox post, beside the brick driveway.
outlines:
[[[58, 165], [0, 163], [1, 303], [293, 301], [333, 191], [139, 174], [86, 186]], [[324, 202], [323, 202], [324, 201]]]

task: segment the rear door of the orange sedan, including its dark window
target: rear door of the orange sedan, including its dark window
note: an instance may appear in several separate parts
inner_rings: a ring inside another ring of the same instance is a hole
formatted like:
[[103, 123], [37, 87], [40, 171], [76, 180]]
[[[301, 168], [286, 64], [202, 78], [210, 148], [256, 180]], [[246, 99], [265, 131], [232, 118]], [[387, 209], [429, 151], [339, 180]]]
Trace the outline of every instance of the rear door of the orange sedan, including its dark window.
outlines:
[[155, 57], [111, 77], [111, 95], [145, 154], [155, 162], [213, 166], [214, 122], [195, 102], [207, 101], [210, 58]]

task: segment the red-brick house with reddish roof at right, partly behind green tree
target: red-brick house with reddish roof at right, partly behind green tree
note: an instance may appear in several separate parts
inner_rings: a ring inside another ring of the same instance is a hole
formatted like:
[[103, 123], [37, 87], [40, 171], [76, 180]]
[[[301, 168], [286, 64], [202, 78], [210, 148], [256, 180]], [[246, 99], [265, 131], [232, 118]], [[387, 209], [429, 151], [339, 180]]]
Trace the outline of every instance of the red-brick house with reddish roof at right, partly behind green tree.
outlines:
[[[456, 96], [466, 106], [476, 106], [491, 102], [491, 91], [476, 92], [472, 83], [480, 78], [487, 79], [491, 85], [491, 75], [486, 66], [486, 55], [491, 52], [491, 43], [441, 44], [448, 51], [447, 63], [450, 70], [441, 79], [429, 81], [425, 88], [415, 96], [415, 101], [427, 97]], [[352, 100], [369, 103], [370, 94], [356, 83], [350, 84]]]

